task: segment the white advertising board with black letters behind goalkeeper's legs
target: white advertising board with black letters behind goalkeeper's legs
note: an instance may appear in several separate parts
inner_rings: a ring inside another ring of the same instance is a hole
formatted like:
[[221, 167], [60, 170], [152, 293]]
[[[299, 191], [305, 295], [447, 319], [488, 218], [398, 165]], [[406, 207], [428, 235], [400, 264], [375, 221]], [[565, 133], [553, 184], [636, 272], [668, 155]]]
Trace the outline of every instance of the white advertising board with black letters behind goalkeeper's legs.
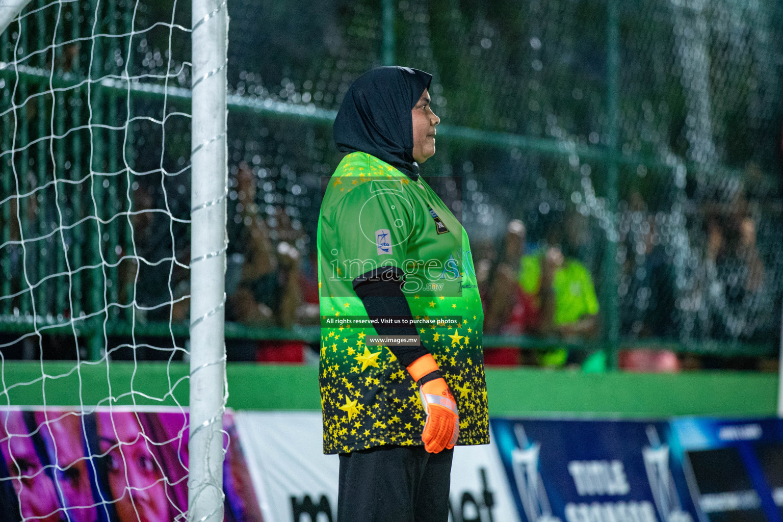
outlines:
[[[320, 412], [236, 412], [265, 522], [337, 521], [337, 455], [323, 455]], [[487, 505], [489, 501], [489, 506]], [[451, 522], [517, 522], [494, 441], [457, 446]]]

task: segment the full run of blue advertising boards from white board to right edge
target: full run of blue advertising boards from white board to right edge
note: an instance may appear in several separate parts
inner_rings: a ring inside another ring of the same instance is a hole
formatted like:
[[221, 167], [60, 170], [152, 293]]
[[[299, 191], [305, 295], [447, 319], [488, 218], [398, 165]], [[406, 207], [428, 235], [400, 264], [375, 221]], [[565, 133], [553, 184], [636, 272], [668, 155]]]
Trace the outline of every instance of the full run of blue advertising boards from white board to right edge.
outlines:
[[520, 520], [783, 522], [783, 419], [491, 423]]

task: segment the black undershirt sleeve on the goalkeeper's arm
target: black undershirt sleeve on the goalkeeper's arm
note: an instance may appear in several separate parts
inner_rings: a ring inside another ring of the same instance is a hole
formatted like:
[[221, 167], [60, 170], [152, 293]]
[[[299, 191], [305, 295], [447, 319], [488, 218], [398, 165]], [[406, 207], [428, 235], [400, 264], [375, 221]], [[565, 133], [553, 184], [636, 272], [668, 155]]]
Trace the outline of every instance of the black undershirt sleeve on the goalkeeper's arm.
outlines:
[[[397, 315], [410, 318], [410, 306], [402, 293], [403, 272], [399, 268], [384, 267], [366, 272], [353, 280], [353, 289], [370, 319]], [[415, 326], [375, 326], [378, 335], [419, 335]], [[424, 344], [419, 346], [389, 346], [403, 367], [430, 353]]]

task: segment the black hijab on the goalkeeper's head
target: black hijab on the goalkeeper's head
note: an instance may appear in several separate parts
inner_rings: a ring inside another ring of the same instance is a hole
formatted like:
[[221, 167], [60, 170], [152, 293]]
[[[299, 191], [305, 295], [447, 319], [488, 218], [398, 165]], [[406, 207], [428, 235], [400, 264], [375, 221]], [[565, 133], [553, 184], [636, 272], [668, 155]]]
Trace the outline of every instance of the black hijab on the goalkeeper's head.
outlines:
[[410, 111], [431, 80], [423, 70], [398, 66], [377, 67], [356, 78], [334, 120], [337, 150], [368, 153], [416, 181]]

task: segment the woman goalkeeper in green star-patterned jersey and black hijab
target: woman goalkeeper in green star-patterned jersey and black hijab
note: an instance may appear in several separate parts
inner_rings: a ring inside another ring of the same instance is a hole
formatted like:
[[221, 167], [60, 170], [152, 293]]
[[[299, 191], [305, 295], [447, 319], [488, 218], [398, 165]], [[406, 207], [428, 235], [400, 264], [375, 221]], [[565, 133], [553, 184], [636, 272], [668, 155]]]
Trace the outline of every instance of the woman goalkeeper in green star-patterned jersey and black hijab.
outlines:
[[340, 455], [339, 522], [446, 522], [453, 446], [489, 443], [470, 243], [419, 175], [440, 122], [431, 78], [370, 70], [334, 121], [348, 154], [324, 193], [317, 244], [323, 450]]

